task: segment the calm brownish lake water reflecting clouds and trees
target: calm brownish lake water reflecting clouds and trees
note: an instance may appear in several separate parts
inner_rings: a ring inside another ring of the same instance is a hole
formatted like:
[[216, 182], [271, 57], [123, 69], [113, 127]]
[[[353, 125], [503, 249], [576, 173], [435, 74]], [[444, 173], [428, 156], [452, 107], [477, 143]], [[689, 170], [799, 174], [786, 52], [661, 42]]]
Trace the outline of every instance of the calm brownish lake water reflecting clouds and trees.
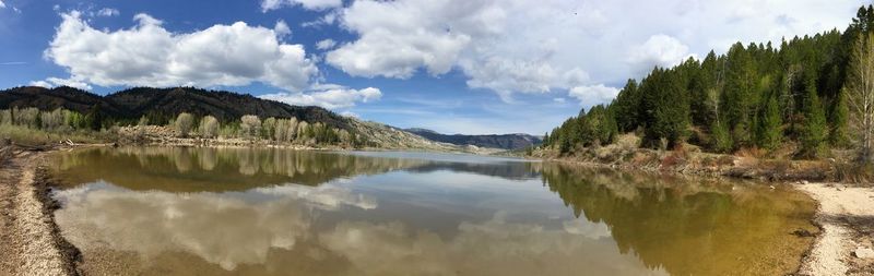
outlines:
[[816, 231], [789, 187], [470, 155], [62, 153], [56, 219], [87, 274], [777, 275]]

